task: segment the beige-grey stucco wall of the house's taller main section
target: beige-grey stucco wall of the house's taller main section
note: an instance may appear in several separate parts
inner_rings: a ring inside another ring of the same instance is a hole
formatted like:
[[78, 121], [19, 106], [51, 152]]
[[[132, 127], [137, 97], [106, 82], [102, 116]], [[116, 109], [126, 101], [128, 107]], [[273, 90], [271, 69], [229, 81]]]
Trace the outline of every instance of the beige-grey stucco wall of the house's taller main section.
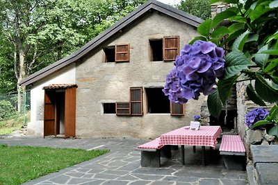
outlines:
[[[186, 104], [185, 116], [147, 114], [145, 88], [163, 87], [173, 67], [173, 62], [150, 62], [149, 39], [179, 36], [181, 49], [196, 35], [196, 28], [154, 11], [92, 51], [76, 65], [76, 135], [154, 138], [189, 125], [200, 114], [204, 96]], [[102, 49], [115, 44], [130, 44], [130, 62], [104, 63]], [[130, 87], [143, 87], [143, 116], [103, 114], [101, 103], [129, 101]]]

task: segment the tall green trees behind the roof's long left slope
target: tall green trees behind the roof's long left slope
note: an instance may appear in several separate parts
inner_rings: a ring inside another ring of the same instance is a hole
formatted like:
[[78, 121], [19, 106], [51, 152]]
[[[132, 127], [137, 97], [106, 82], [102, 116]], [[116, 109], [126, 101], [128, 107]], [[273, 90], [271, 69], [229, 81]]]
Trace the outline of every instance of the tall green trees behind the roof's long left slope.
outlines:
[[[0, 52], [0, 69], [8, 67], [18, 83], [76, 51], [143, 2], [145, 0], [2, 0], [0, 39], [5, 49]], [[13, 69], [10, 69], [11, 64]], [[9, 76], [2, 74], [1, 78]], [[20, 112], [21, 92], [25, 89], [18, 85], [16, 89]]]

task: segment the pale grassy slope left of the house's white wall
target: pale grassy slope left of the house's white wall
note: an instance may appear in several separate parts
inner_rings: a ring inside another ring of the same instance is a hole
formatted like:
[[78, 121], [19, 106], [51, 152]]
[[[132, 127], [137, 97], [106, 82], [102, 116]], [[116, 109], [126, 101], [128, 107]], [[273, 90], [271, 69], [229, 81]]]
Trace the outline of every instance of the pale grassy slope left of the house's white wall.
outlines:
[[[30, 112], [26, 114], [26, 123], [30, 121]], [[10, 134], [14, 130], [19, 130], [24, 125], [24, 115], [19, 114], [12, 116], [6, 121], [0, 121], [0, 135]]]

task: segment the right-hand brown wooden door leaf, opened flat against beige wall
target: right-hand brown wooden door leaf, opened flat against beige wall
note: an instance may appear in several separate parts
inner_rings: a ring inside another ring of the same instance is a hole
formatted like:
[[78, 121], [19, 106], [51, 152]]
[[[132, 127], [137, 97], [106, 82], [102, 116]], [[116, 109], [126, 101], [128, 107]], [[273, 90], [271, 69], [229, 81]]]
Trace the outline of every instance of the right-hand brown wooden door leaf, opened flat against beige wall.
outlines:
[[75, 136], [76, 87], [65, 89], [65, 138]]

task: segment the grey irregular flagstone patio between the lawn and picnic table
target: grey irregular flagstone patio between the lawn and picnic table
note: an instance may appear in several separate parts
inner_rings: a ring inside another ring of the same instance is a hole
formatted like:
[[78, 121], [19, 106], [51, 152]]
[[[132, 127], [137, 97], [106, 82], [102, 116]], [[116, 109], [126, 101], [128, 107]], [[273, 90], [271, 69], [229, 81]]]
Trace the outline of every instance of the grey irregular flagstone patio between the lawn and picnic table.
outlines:
[[206, 150], [207, 166], [202, 166], [202, 148], [186, 147], [186, 164], [181, 164], [181, 150], [172, 158], [161, 158], [161, 168], [140, 166], [136, 146], [141, 139], [57, 139], [47, 137], [2, 138], [0, 144], [11, 146], [49, 146], [54, 148], [109, 149], [110, 152], [81, 164], [51, 173], [25, 184], [247, 184], [246, 171], [227, 170], [219, 155], [219, 144], [213, 153]]

